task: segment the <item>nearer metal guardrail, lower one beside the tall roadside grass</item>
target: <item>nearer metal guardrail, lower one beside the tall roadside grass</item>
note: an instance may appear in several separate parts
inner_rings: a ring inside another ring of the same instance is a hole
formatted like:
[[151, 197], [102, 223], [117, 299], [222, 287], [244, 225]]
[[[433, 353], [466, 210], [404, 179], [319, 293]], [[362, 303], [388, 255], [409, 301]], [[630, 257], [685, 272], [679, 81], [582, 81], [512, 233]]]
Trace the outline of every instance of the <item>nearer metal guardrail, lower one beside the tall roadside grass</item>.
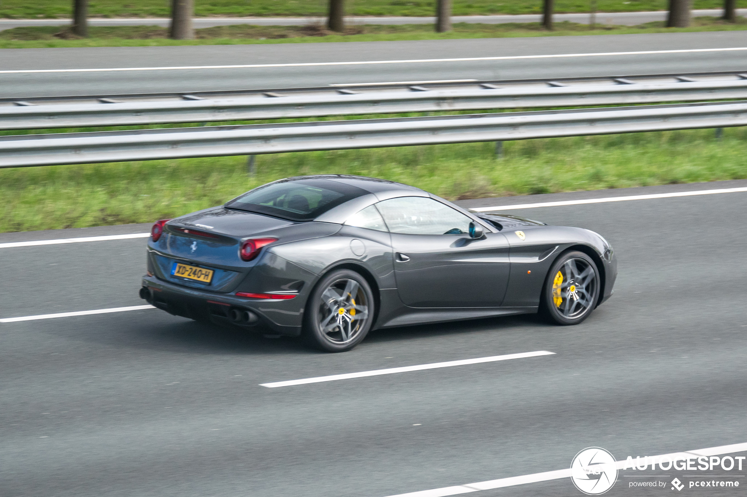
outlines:
[[747, 125], [747, 101], [0, 137], [0, 167], [524, 140]]

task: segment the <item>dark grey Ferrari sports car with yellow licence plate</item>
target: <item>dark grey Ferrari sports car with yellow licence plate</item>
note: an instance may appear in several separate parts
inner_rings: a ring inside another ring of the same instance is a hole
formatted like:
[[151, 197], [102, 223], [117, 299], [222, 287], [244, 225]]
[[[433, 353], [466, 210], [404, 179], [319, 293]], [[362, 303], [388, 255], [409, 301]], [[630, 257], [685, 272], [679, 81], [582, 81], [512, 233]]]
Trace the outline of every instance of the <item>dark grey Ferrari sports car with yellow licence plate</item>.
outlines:
[[177, 316], [347, 351], [376, 328], [541, 313], [613, 293], [601, 235], [462, 209], [406, 184], [286, 178], [152, 227], [140, 297]]

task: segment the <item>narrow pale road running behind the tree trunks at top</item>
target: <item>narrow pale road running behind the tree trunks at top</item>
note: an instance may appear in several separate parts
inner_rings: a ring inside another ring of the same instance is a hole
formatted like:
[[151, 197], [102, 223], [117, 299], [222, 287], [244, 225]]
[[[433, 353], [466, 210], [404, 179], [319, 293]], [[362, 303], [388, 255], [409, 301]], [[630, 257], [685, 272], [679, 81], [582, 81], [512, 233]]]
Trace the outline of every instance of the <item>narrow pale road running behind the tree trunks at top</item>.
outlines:
[[[722, 16], [722, 9], [698, 9], [692, 10], [692, 16]], [[737, 15], [744, 16], [747, 9], [737, 9]], [[625, 25], [634, 26], [644, 22], [666, 20], [666, 10], [657, 10], [649, 12], [598, 12], [596, 13], [595, 22], [604, 25]], [[515, 16], [452, 16], [451, 21], [456, 22], [479, 22], [483, 24], [504, 24], [507, 22], [539, 22], [542, 19], [541, 14], [519, 14]], [[588, 24], [590, 22], [589, 13], [557, 13], [554, 15], [555, 22], [571, 21]], [[362, 24], [433, 24], [435, 17], [364, 17], [364, 16], [347, 16], [345, 22], [348, 25]], [[25, 26], [64, 26], [69, 25], [71, 19], [0, 19], [0, 31], [11, 28]], [[92, 26], [142, 26], [157, 25], [168, 26], [171, 19], [163, 17], [146, 17], [146, 18], [90, 18], [89, 25]], [[250, 24], [255, 26], [304, 26], [308, 24], [323, 24], [326, 22], [324, 17], [195, 17], [193, 19], [195, 28], [212, 28], [213, 26], [230, 26], [237, 24]]]

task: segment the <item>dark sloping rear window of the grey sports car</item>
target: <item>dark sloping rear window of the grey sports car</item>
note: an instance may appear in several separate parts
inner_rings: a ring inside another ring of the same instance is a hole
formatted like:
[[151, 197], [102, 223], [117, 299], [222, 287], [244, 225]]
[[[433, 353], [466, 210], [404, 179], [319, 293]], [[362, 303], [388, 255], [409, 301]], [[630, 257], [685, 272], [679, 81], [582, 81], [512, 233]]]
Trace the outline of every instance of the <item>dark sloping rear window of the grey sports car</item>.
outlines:
[[229, 201], [226, 207], [293, 221], [311, 221], [366, 190], [325, 179], [276, 181]]

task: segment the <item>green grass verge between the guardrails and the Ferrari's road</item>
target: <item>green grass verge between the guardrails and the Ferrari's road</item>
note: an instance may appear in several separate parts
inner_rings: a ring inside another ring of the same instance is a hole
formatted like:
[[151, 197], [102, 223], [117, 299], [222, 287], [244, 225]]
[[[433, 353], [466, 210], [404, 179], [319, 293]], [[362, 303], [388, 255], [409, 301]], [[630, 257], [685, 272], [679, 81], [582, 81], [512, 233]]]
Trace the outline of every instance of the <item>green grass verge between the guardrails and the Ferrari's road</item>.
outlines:
[[152, 222], [294, 175], [401, 181], [447, 199], [747, 178], [747, 128], [0, 170], [0, 232]]

